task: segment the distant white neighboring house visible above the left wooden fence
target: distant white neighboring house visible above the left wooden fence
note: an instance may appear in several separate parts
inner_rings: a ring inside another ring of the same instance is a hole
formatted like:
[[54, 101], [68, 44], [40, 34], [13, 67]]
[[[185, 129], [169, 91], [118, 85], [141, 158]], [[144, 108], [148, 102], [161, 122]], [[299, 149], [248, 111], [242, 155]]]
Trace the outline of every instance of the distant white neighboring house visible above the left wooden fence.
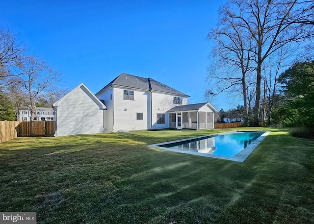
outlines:
[[[37, 114], [37, 116], [36, 116]], [[22, 107], [19, 111], [19, 121], [30, 121], [30, 107]], [[55, 113], [52, 107], [36, 107], [34, 112], [34, 121], [55, 121]]]

